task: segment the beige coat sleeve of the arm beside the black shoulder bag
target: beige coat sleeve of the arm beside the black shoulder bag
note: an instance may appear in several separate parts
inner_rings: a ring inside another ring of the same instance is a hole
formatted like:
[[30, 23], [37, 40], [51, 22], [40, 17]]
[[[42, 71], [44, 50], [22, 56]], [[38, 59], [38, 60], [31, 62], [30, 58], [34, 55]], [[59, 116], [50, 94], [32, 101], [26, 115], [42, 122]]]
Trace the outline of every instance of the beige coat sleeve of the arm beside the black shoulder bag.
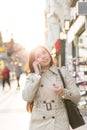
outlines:
[[61, 71], [66, 86], [66, 88], [64, 88], [63, 98], [70, 99], [74, 103], [78, 103], [80, 101], [81, 96], [80, 89], [77, 87], [75, 79], [72, 77], [71, 73], [66, 69], [66, 67], [62, 67]]

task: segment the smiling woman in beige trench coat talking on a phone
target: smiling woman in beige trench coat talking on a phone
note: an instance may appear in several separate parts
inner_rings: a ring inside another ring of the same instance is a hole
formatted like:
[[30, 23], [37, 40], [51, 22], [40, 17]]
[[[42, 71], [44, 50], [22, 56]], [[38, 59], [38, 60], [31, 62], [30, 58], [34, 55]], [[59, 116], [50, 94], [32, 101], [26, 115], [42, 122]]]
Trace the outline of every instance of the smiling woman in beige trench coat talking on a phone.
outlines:
[[[31, 111], [29, 130], [70, 130], [63, 98], [75, 103], [80, 91], [65, 66], [56, 67], [47, 48], [38, 46], [29, 54], [29, 69], [22, 97]], [[66, 88], [58, 73], [60, 68]]]

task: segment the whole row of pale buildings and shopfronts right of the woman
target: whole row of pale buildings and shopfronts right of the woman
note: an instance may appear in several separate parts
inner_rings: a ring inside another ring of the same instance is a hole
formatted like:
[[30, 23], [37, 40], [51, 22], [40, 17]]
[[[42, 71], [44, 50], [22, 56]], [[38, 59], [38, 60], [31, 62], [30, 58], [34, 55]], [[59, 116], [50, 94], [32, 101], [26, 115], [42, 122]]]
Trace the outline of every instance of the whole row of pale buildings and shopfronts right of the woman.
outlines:
[[60, 40], [57, 65], [67, 66], [87, 108], [87, 0], [46, 0], [45, 17], [46, 46], [52, 51]]

